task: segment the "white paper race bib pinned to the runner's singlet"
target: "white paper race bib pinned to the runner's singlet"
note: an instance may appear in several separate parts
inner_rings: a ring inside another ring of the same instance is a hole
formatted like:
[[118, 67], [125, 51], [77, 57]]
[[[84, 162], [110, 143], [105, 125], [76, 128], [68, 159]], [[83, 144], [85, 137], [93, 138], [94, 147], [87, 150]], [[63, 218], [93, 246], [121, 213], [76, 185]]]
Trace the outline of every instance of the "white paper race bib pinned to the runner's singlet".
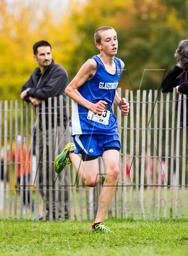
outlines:
[[87, 114], [87, 119], [92, 120], [94, 122], [98, 122], [103, 125], [108, 125], [109, 118], [110, 118], [110, 107], [109, 106], [107, 106], [104, 109], [103, 113], [101, 113], [101, 114], [94, 114], [94, 112], [92, 112], [90, 110], [88, 111], [88, 114]]

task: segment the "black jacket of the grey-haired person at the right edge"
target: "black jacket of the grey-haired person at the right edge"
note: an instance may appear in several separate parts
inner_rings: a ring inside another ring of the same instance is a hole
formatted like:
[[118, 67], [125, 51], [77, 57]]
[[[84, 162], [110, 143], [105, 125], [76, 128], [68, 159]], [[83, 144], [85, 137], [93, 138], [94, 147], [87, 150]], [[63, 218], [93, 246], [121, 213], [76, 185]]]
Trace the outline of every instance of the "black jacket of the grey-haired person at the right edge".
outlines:
[[[179, 84], [179, 75], [183, 72], [183, 69], [177, 65], [167, 73], [164, 80], [162, 81], [162, 92], [172, 92], [173, 88], [179, 85], [179, 92], [188, 95], [188, 72], [187, 72], [187, 82]], [[188, 126], [188, 99], [187, 102], [187, 126]]]

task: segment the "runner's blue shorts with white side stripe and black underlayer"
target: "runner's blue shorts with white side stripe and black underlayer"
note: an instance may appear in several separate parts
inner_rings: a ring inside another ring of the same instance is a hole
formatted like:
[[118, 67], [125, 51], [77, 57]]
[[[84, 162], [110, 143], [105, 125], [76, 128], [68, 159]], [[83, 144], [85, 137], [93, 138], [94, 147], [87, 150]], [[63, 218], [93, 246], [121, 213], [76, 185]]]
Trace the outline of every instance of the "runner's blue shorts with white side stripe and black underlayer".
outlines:
[[83, 161], [96, 159], [106, 150], [115, 149], [120, 151], [121, 149], [118, 135], [73, 135], [73, 141], [76, 145], [74, 153], [81, 153]]

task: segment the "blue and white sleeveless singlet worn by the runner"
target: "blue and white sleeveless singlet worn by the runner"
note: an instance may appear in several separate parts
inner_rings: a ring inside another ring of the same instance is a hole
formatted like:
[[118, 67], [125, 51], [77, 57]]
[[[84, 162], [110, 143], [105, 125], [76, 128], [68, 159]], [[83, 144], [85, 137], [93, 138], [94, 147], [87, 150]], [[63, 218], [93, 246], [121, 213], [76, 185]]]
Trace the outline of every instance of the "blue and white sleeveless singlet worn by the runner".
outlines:
[[102, 115], [96, 115], [73, 101], [72, 135], [115, 135], [118, 134], [116, 125], [117, 118], [112, 112], [111, 106], [120, 80], [121, 63], [119, 58], [114, 58], [116, 73], [115, 75], [111, 75], [107, 72], [102, 60], [97, 55], [94, 55], [92, 58], [98, 63], [97, 71], [91, 79], [85, 81], [85, 83], [78, 88], [78, 91], [90, 102], [97, 103], [99, 100], [106, 101], [108, 103], [107, 110], [104, 110]]

